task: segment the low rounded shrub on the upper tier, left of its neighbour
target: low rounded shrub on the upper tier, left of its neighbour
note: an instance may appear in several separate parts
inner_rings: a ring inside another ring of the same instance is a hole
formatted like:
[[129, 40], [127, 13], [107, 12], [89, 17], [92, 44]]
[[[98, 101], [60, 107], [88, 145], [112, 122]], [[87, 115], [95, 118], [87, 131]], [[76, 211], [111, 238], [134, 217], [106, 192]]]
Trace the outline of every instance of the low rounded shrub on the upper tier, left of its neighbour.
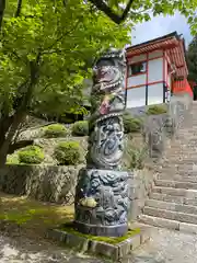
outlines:
[[44, 128], [44, 137], [58, 138], [66, 137], [68, 129], [62, 124], [51, 124]]

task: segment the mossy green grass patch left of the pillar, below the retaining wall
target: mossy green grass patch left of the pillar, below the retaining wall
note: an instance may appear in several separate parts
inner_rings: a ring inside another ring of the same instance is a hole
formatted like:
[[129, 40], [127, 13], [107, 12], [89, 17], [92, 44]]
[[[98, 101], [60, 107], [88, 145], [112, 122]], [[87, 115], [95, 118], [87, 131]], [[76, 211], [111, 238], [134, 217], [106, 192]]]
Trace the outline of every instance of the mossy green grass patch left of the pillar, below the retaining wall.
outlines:
[[48, 228], [73, 219], [72, 206], [55, 205], [0, 193], [0, 220], [14, 222], [30, 229], [39, 236], [45, 235]]

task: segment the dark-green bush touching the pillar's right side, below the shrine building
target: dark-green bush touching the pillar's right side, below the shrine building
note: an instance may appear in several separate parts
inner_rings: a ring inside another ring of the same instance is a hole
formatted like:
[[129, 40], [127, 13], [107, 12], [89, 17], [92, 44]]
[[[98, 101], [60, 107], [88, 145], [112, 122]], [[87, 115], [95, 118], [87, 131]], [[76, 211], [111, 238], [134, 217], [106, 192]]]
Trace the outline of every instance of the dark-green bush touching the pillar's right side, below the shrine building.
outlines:
[[140, 118], [132, 117], [129, 113], [123, 115], [125, 134], [137, 133], [141, 129], [142, 122]]

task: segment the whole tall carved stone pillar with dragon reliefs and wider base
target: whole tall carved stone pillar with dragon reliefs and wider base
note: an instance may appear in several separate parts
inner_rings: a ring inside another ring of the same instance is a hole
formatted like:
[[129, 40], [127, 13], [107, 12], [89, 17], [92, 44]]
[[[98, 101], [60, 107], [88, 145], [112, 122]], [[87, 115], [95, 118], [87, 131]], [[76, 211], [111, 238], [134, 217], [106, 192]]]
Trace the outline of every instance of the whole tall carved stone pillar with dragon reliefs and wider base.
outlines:
[[121, 171], [125, 50], [109, 49], [95, 62], [91, 93], [86, 168], [79, 172], [74, 227], [94, 236], [120, 237], [127, 230], [128, 173]]

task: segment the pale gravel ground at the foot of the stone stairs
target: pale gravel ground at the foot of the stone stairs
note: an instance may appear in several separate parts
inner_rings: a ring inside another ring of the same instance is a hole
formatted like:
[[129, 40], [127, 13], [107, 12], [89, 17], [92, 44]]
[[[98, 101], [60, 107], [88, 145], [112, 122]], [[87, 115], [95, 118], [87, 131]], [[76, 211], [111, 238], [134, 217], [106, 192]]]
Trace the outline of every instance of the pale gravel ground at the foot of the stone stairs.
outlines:
[[197, 235], [152, 229], [150, 242], [136, 250], [123, 263], [195, 263]]

